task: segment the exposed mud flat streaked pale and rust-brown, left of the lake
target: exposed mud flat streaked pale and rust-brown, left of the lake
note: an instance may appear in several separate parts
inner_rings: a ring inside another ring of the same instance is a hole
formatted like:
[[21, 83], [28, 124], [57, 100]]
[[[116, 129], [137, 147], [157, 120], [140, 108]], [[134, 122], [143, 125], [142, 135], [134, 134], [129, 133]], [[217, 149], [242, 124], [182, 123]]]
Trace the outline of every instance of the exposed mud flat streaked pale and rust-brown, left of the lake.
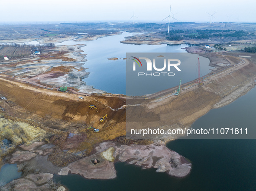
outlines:
[[[2, 75], [19, 77], [17, 79], [20, 81], [49, 88], [67, 86], [84, 94], [106, 93], [82, 81], [89, 75], [83, 67], [83, 62], [87, 61], [84, 54], [81, 54], [83, 51], [80, 48], [83, 46], [85, 45], [59, 46], [39, 56], [0, 63], [0, 72]], [[23, 72], [23, 75], [19, 75]]]

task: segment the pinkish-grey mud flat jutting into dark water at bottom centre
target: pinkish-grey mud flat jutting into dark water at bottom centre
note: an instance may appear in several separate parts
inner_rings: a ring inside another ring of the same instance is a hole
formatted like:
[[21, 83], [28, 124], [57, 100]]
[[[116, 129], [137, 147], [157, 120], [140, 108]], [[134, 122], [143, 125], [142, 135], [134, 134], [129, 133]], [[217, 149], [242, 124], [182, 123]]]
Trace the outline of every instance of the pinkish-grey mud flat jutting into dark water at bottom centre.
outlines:
[[[157, 172], [166, 172], [175, 177], [184, 177], [191, 170], [191, 163], [160, 142], [150, 145], [118, 145], [114, 142], [104, 142], [95, 149], [96, 153], [70, 163], [58, 174], [67, 175], [70, 172], [80, 174], [84, 178], [115, 178], [113, 161], [127, 162], [144, 169], [156, 168]], [[103, 157], [105, 152], [107, 157]], [[95, 159], [100, 162], [93, 164], [91, 161]]]

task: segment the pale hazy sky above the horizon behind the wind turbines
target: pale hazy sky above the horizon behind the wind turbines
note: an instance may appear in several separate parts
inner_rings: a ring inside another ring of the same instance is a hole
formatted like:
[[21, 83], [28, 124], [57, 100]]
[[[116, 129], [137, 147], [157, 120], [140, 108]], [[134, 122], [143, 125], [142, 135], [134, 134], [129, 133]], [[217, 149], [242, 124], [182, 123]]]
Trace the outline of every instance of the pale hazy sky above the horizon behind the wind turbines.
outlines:
[[206, 12], [217, 12], [213, 22], [256, 22], [256, 0], [0, 0], [0, 22], [129, 21], [133, 10], [135, 21], [160, 22], [170, 5], [181, 22], [209, 22]]

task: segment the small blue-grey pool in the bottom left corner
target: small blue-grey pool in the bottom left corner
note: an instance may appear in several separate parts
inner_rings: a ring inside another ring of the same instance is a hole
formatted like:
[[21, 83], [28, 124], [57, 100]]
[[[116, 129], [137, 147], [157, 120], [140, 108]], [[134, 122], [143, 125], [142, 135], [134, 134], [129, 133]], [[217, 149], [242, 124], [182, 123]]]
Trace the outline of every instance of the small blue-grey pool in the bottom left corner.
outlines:
[[0, 182], [7, 184], [13, 179], [19, 178], [22, 172], [18, 172], [17, 164], [5, 164], [0, 169]]

